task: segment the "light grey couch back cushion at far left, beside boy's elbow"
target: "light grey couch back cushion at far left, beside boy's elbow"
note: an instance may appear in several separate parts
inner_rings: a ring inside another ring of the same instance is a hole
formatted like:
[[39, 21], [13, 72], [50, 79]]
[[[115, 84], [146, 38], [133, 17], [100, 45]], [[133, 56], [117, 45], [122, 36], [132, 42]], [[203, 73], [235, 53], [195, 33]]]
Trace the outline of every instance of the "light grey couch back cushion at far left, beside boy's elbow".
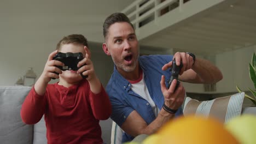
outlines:
[[2, 144], [32, 143], [33, 125], [21, 121], [21, 105], [31, 87], [0, 87], [0, 140]]

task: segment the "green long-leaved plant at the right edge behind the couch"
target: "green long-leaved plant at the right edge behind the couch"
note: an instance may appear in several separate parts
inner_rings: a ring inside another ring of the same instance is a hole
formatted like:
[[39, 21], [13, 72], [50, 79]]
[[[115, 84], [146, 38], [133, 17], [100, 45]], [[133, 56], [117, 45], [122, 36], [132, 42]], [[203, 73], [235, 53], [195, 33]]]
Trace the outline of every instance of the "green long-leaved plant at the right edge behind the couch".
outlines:
[[[253, 53], [252, 56], [252, 62], [249, 63], [249, 76], [251, 78], [251, 80], [253, 81], [254, 84], [254, 90], [251, 88], [248, 88], [249, 91], [252, 93], [252, 97], [245, 94], [245, 97], [248, 98], [249, 100], [251, 100], [253, 102], [253, 104], [256, 106], [256, 56], [255, 53]], [[241, 92], [241, 89], [236, 85], [236, 89], [238, 92]]]

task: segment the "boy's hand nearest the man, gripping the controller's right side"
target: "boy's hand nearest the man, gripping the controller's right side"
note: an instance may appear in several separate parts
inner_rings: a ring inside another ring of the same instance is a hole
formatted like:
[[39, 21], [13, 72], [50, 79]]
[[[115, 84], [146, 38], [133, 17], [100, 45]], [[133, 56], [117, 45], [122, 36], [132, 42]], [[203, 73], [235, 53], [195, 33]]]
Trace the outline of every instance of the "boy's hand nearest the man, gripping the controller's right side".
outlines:
[[86, 46], [84, 46], [84, 50], [86, 52], [85, 58], [77, 64], [78, 68], [82, 65], [83, 66], [77, 70], [77, 73], [87, 75], [88, 77], [86, 78], [86, 80], [88, 81], [95, 80], [97, 76], [95, 74], [94, 64], [91, 61], [91, 52]]

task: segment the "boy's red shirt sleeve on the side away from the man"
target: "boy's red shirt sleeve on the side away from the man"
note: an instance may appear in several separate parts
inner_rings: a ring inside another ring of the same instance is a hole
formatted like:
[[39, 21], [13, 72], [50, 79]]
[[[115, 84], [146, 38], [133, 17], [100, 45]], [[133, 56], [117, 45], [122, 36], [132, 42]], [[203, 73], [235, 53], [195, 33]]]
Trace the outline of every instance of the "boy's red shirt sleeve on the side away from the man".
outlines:
[[[46, 92], [45, 92], [46, 94]], [[21, 119], [26, 124], [36, 124], [44, 115], [46, 95], [38, 95], [31, 89], [21, 106]]]

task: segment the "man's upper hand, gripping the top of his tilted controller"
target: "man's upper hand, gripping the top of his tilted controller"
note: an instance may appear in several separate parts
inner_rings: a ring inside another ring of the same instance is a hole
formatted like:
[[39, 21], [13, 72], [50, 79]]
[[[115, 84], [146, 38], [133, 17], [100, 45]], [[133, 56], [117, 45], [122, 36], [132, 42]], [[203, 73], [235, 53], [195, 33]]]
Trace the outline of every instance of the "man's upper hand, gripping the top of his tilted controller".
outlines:
[[[193, 57], [191, 57], [188, 53], [186, 52], [176, 52], [173, 56], [173, 59], [175, 58], [176, 60], [176, 64], [179, 66], [182, 62], [183, 67], [181, 69], [181, 71], [179, 72], [179, 75], [182, 75], [184, 73], [184, 71], [191, 69], [194, 62]], [[172, 67], [172, 61], [165, 64], [162, 67], [162, 70], [166, 70], [167, 68], [171, 68]]]

